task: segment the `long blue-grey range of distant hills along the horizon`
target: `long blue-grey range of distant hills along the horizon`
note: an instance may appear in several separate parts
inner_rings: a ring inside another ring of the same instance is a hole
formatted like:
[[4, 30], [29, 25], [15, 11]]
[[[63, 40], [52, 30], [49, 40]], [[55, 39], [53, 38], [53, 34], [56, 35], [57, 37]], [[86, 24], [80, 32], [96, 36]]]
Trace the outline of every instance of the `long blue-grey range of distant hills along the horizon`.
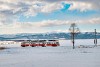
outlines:
[[[21, 34], [4, 34], [0, 35], [0, 40], [16, 40], [16, 39], [70, 39], [70, 33], [21, 33]], [[94, 39], [94, 32], [79, 33], [76, 39]], [[100, 33], [97, 33], [97, 38], [100, 39]]]

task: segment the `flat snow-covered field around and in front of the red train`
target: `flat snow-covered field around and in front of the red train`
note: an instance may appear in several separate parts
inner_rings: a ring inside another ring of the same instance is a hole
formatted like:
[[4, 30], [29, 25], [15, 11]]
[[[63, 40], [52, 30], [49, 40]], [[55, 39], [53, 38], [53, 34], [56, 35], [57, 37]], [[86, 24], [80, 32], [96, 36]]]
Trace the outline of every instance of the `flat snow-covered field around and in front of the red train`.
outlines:
[[[79, 45], [93, 46], [93, 40], [76, 40], [72, 49], [70, 40], [60, 40], [59, 47], [20, 47], [20, 43], [2, 45], [0, 67], [100, 67], [100, 46], [78, 48]], [[98, 40], [100, 45], [100, 39]]]

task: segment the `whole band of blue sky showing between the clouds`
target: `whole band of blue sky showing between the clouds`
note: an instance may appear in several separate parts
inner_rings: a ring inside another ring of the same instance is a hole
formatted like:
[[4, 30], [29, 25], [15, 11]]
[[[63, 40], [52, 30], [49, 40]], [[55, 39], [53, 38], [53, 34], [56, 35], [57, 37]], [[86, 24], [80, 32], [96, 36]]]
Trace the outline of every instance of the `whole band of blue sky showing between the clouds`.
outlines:
[[96, 11], [83, 11], [79, 10], [68, 10], [70, 4], [64, 4], [64, 8], [60, 10], [53, 11], [51, 13], [38, 13], [36, 16], [29, 16], [28, 18], [24, 15], [20, 15], [20, 22], [40, 22], [43, 20], [78, 20], [87, 19], [94, 17], [97, 14]]

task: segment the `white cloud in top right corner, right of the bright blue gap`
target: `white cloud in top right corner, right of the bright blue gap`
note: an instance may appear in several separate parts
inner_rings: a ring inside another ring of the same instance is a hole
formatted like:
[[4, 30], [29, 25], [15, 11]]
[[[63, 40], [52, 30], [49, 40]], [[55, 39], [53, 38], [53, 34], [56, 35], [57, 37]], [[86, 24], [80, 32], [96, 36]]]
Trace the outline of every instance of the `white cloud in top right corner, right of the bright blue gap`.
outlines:
[[[66, 2], [70, 3], [71, 5], [71, 10], [78, 9], [80, 11], [83, 10], [100, 10], [100, 0], [38, 0], [38, 1], [47, 1], [47, 2]], [[82, 8], [81, 8], [82, 7]]]

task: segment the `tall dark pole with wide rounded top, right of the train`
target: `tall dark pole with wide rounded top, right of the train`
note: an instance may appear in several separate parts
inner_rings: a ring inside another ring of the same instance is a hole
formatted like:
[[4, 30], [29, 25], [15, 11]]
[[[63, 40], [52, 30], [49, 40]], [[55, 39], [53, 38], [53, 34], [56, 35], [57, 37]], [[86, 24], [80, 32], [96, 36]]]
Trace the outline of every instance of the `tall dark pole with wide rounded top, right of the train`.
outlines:
[[75, 36], [80, 32], [79, 28], [76, 26], [75, 23], [72, 23], [70, 28], [69, 28], [70, 34], [71, 34], [71, 39], [73, 43], [73, 49], [75, 49]]

